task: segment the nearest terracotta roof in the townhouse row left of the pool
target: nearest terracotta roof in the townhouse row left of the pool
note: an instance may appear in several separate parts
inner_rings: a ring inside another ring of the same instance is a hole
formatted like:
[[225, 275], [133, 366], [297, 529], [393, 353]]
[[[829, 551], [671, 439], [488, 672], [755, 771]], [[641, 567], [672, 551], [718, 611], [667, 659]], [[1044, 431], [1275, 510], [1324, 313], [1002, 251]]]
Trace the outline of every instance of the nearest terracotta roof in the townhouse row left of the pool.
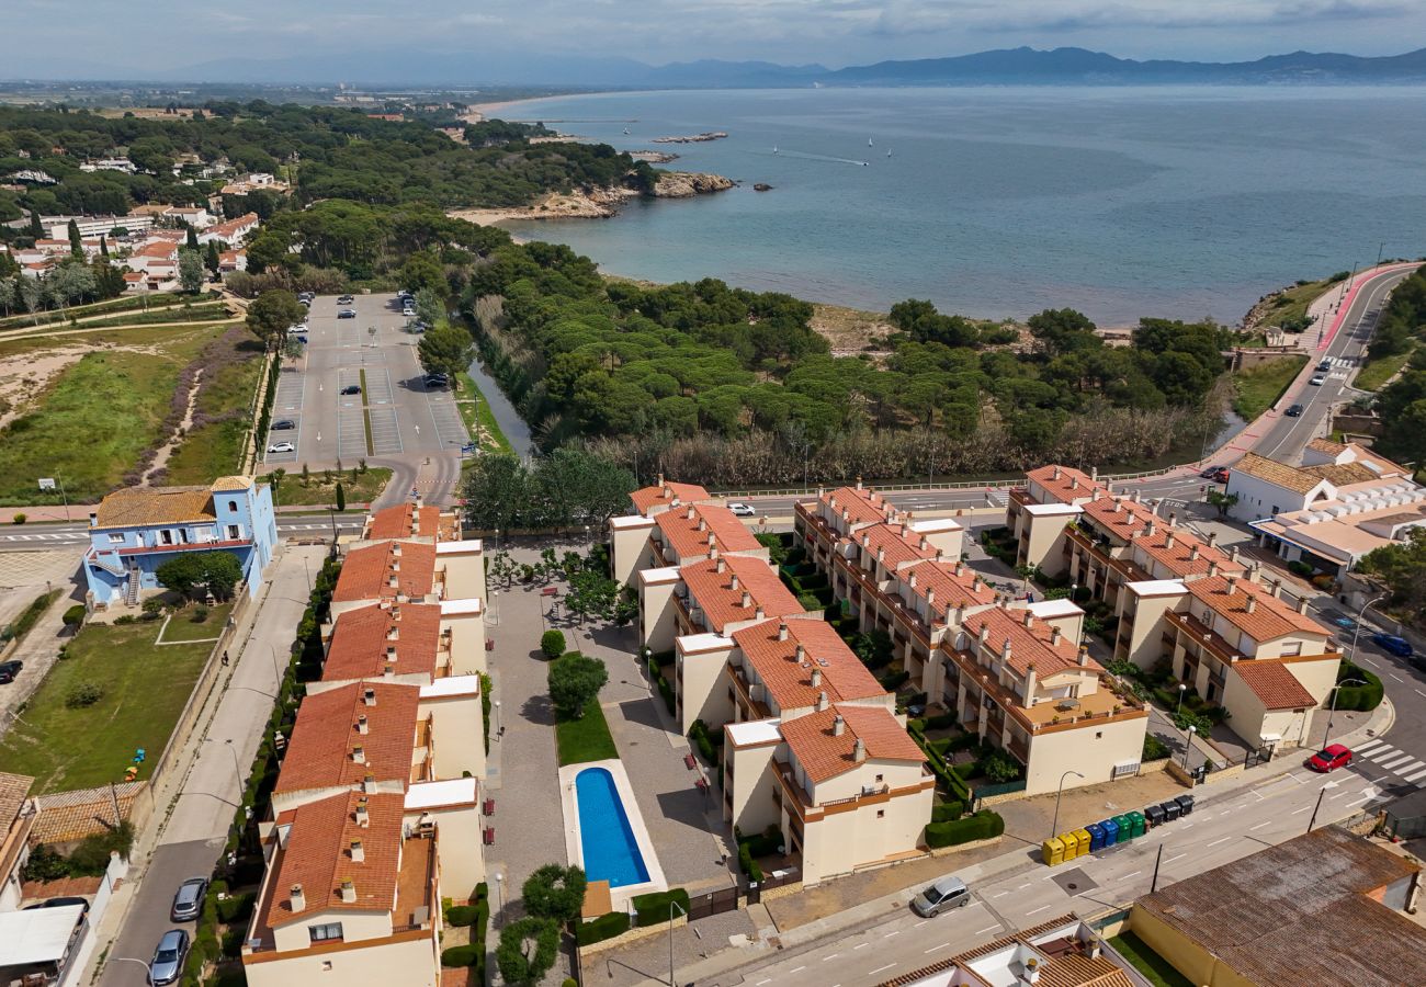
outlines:
[[[355, 792], [318, 799], [291, 813], [287, 849], [275, 877], [268, 924], [281, 926], [304, 914], [328, 910], [391, 911], [401, 873], [404, 796]], [[356, 822], [359, 804], [366, 824]], [[352, 860], [352, 840], [361, 840], [362, 860]], [[349, 880], [355, 901], [342, 901]], [[291, 889], [302, 886], [304, 907], [292, 909]]]

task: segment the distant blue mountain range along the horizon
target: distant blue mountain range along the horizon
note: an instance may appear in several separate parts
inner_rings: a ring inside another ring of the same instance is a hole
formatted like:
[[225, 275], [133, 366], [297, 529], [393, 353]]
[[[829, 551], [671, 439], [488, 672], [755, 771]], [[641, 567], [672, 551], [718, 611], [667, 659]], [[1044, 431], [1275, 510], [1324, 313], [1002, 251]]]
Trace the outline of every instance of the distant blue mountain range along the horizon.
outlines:
[[439, 54], [401, 47], [279, 60], [228, 58], [145, 81], [361, 86], [565, 86], [578, 88], [749, 88], [801, 86], [1128, 86], [1423, 83], [1426, 48], [1397, 56], [1293, 51], [1256, 61], [1135, 61], [1085, 48], [1004, 48], [948, 58], [826, 68], [769, 61], [647, 66], [629, 58], [528, 53]]

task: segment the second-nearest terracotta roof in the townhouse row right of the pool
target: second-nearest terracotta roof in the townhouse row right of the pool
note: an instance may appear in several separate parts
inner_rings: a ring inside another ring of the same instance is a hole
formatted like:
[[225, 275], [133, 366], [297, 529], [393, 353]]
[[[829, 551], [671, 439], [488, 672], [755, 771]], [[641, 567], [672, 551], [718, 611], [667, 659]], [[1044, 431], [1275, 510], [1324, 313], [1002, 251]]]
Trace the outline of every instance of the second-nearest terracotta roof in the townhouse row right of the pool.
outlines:
[[[787, 628], [786, 640], [777, 639], [780, 625]], [[733, 640], [779, 709], [814, 706], [821, 692], [833, 703], [886, 695], [876, 676], [826, 620], [764, 620], [736, 632]], [[797, 663], [799, 645], [804, 665]], [[820, 673], [819, 685], [811, 683], [813, 670]]]

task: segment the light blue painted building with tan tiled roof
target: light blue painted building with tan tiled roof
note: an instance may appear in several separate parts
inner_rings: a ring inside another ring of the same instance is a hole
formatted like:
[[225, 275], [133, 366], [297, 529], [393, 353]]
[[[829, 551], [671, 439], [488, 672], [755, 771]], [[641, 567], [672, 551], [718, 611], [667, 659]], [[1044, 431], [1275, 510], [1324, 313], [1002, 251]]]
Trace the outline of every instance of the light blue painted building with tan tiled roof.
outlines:
[[272, 491], [251, 476], [212, 486], [130, 486], [90, 513], [84, 578], [94, 606], [138, 603], [163, 586], [154, 572], [181, 552], [231, 552], [242, 565], [238, 592], [257, 596], [277, 548]]

